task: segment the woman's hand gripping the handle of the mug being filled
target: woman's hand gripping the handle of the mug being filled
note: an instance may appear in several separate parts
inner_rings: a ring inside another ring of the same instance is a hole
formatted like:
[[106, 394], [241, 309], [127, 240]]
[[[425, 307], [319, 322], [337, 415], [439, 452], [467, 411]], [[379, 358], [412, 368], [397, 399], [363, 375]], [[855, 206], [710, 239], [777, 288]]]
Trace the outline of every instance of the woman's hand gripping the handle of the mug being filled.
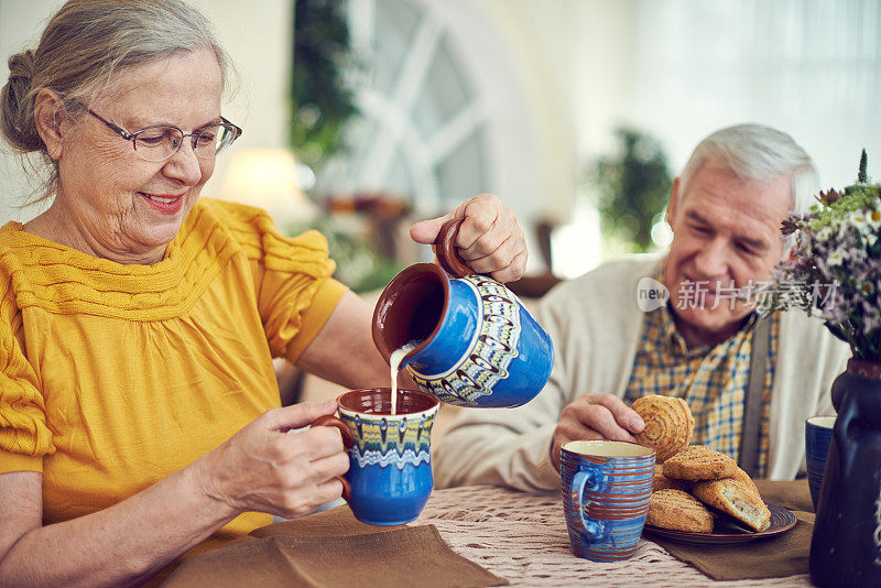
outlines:
[[335, 427], [287, 433], [336, 411], [336, 401], [271, 409], [197, 461], [207, 496], [233, 514], [268, 512], [285, 519], [308, 514], [335, 500], [349, 469]]

